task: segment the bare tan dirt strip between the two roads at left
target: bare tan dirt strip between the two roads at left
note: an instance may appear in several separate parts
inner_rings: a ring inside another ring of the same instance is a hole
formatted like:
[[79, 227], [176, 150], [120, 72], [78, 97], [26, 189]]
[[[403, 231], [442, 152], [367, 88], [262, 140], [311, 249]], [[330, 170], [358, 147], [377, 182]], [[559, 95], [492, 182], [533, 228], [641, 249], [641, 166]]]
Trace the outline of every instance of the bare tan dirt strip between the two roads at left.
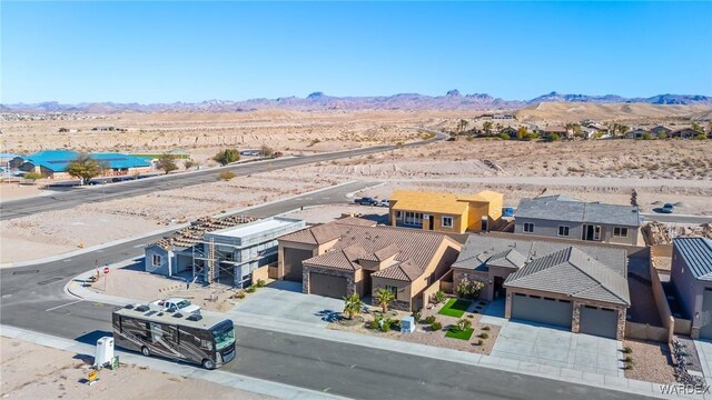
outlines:
[[38, 259], [106, 243], [344, 180], [267, 172], [1, 221], [0, 262]]

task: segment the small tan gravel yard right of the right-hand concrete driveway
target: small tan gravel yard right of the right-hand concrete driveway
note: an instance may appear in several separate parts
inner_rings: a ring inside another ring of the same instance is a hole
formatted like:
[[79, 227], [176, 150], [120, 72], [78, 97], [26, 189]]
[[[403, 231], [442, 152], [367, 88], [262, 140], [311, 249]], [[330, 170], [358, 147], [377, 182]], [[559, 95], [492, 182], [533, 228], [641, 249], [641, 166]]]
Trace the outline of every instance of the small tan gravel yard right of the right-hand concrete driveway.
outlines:
[[[637, 379], [655, 383], [672, 383], [675, 381], [668, 346], [657, 342], [625, 340], [623, 347], [630, 347], [633, 352], [633, 369], [625, 370], [625, 378]], [[621, 358], [625, 354], [621, 353]]]

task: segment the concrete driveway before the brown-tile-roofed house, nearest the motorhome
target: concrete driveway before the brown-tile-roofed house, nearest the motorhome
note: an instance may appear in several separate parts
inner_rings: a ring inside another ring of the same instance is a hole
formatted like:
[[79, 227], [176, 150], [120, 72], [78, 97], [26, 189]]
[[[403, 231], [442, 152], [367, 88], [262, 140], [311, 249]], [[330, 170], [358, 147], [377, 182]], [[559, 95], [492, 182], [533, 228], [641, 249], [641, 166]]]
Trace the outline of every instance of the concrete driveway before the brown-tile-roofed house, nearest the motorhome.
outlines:
[[301, 293], [301, 282], [275, 281], [248, 293], [235, 311], [326, 326], [330, 314], [344, 310], [344, 300]]

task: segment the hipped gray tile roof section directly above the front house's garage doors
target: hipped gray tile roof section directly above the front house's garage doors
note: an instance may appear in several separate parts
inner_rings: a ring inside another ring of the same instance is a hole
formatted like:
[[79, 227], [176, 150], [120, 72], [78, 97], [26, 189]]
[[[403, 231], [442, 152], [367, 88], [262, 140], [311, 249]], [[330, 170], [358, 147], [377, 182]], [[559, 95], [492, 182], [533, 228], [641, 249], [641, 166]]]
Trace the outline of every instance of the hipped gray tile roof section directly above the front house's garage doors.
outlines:
[[534, 258], [512, 273], [505, 287], [631, 304], [627, 279], [573, 246]]

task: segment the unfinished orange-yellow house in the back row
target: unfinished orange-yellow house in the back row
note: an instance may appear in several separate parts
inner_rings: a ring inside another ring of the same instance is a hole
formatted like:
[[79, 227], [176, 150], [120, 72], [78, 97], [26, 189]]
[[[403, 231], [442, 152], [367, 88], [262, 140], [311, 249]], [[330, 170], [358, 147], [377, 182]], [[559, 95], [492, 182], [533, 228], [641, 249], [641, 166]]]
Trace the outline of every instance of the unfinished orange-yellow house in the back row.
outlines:
[[491, 190], [473, 194], [396, 190], [388, 202], [392, 227], [464, 233], [486, 231], [498, 221], [504, 196]]

